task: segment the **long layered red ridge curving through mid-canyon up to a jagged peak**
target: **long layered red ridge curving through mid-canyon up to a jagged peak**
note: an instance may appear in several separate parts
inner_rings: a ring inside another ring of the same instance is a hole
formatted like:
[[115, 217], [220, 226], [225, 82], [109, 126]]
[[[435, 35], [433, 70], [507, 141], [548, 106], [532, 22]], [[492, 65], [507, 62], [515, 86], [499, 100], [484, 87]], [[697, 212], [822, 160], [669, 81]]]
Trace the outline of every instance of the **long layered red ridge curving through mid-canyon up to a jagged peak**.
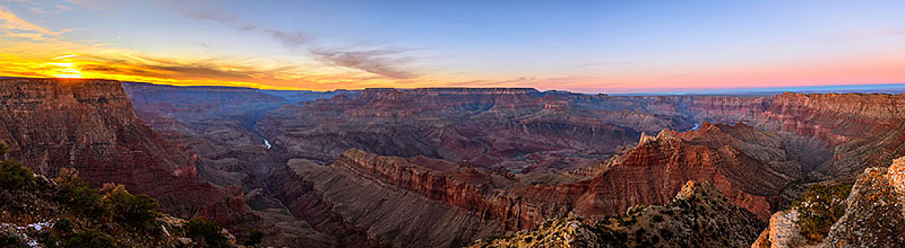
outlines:
[[[716, 185], [731, 202], [767, 219], [780, 189], [794, 179], [771, 167], [794, 164], [783, 152], [770, 133], [744, 124], [703, 124], [698, 131], [643, 136], [594, 178], [555, 186], [527, 185], [508, 171], [467, 162], [354, 149], [329, 166], [291, 161], [267, 184], [271, 194], [320, 232], [359, 236], [350, 243], [373, 239], [394, 246], [456, 246], [469, 238], [532, 228], [551, 217], [605, 217], [636, 205], [664, 204], [690, 179]], [[416, 229], [396, 223], [420, 211], [439, 216], [419, 218]], [[389, 213], [402, 219], [378, 219], [377, 214]]]

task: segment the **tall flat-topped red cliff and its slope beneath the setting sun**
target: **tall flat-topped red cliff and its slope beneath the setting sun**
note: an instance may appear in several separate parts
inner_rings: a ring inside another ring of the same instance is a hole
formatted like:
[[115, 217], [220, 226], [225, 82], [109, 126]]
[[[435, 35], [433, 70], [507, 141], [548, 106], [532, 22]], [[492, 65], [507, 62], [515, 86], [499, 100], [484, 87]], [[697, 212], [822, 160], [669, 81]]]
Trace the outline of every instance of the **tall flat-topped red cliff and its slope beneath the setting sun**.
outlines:
[[228, 226], [252, 218], [241, 192], [199, 179], [194, 155], [135, 116], [119, 82], [2, 79], [0, 86], [0, 142], [34, 171], [55, 176], [71, 168], [94, 187], [123, 184], [157, 198], [174, 216], [208, 216]]

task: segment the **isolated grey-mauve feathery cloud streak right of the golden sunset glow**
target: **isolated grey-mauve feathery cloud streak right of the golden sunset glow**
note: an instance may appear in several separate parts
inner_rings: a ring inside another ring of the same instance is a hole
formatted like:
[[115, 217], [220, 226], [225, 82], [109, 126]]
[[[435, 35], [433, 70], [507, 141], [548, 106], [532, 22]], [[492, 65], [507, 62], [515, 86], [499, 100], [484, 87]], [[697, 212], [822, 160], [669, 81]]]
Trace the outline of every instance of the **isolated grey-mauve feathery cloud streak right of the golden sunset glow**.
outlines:
[[387, 78], [416, 78], [417, 74], [405, 69], [397, 68], [397, 65], [405, 64], [411, 58], [398, 57], [401, 53], [410, 50], [380, 49], [367, 51], [338, 51], [327, 49], [314, 49], [311, 53], [319, 56], [329, 64], [349, 69], [359, 69]]

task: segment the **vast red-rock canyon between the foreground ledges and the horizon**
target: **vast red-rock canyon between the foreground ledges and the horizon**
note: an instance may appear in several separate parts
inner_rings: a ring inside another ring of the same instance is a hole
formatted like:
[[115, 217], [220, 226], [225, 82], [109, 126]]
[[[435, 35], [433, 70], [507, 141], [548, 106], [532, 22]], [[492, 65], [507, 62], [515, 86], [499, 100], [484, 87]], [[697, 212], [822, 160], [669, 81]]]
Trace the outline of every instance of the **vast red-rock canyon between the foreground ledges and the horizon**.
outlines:
[[276, 246], [462, 247], [669, 204], [688, 181], [759, 231], [808, 184], [905, 155], [903, 95], [0, 84], [0, 142], [35, 172], [74, 168]]

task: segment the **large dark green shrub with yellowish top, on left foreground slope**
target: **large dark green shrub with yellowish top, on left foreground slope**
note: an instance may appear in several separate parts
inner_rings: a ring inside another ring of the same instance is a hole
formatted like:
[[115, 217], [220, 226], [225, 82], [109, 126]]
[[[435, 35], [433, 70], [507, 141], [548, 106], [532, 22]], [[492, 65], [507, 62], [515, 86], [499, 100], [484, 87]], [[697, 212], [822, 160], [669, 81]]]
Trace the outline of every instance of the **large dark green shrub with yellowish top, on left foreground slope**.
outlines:
[[111, 183], [104, 184], [100, 191], [106, 192], [104, 201], [114, 220], [146, 230], [157, 229], [157, 217], [161, 214], [155, 211], [160, 205], [154, 198], [133, 196], [125, 186]]

